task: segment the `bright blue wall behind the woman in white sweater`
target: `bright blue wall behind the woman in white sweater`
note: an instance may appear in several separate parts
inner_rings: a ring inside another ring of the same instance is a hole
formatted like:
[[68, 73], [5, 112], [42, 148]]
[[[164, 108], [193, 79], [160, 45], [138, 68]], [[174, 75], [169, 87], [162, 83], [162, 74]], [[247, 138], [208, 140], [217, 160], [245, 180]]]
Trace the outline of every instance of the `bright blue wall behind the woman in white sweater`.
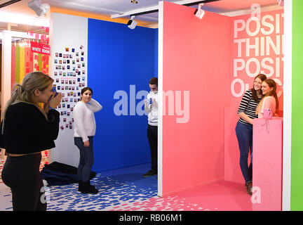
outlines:
[[[125, 24], [88, 20], [88, 86], [103, 106], [95, 113], [94, 171], [150, 162], [147, 115], [135, 112], [144, 96], [130, 99], [130, 85], [135, 85], [135, 94], [149, 91], [149, 79], [158, 75], [157, 42], [154, 29], [130, 30]], [[117, 116], [114, 105], [122, 103], [122, 96], [114, 99], [114, 94], [122, 92], [127, 101], [118, 109], [127, 115]]]

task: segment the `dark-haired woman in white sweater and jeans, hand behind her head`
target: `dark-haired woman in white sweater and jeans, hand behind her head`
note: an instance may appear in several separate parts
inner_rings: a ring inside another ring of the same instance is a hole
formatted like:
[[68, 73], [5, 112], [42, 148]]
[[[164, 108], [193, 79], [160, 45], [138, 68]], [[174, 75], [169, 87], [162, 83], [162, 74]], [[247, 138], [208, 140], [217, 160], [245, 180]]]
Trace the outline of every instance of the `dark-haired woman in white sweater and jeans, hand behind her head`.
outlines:
[[78, 166], [79, 188], [81, 193], [98, 193], [90, 185], [90, 170], [93, 167], [93, 136], [96, 124], [94, 113], [102, 110], [102, 105], [93, 98], [93, 90], [85, 87], [81, 90], [81, 101], [74, 107], [74, 144], [80, 150]]

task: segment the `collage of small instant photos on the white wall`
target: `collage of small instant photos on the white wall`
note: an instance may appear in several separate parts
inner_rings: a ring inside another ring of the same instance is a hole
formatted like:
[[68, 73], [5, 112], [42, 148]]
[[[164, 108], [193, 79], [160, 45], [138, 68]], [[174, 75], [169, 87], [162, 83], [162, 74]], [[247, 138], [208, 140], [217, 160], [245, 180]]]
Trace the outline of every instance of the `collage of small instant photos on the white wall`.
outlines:
[[73, 129], [74, 106], [81, 99], [81, 89], [86, 86], [86, 64], [83, 46], [65, 47], [55, 52], [53, 86], [63, 96], [56, 110], [60, 113], [60, 129]]

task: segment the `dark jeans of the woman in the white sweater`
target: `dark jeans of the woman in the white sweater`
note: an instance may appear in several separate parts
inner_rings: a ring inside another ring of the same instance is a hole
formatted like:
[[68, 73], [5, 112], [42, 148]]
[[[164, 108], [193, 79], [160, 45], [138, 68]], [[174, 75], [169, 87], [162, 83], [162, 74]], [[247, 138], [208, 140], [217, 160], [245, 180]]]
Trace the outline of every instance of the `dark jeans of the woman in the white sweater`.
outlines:
[[90, 146], [84, 147], [82, 138], [74, 137], [74, 144], [80, 150], [80, 162], [78, 166], [78, 179], [87, 182], [90, 180], [90, 170], [93, 167], [93, 136], [88, 136]]

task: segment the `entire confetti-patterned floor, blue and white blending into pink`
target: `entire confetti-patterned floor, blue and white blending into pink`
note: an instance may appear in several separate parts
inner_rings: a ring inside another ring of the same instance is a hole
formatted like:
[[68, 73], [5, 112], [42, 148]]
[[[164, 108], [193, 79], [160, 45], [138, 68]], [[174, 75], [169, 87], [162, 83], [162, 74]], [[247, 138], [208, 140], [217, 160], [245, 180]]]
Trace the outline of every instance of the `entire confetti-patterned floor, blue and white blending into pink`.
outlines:
[[[0, 161], [0, 172], [4, 161]], [[97, 173], [90, 182], [99, 193], [78, 192], [77, 184], [46, 187], [48, 211], [250, 211], [243, 184], [218, 181], [180, 193], [157, 196], [156, 176], [142, 177], [148, 164]], [[11, 211], [11, 191], [0, 180], [0, 210]]]

